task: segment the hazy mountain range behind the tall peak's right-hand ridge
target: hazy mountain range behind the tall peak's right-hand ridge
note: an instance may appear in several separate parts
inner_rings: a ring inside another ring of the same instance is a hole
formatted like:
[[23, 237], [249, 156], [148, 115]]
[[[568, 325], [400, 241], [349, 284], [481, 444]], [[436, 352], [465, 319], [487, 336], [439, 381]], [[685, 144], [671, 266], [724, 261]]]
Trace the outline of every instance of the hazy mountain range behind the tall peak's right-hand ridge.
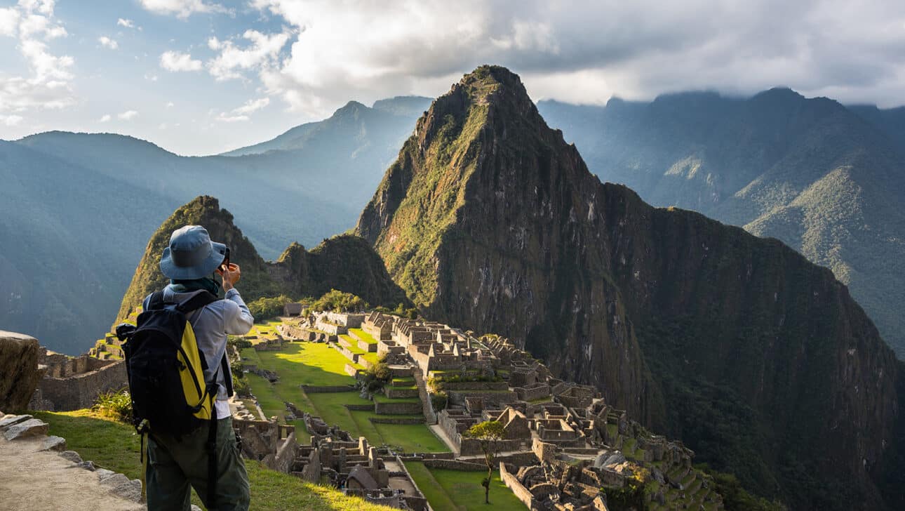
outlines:
[[905, 118], [788, 89], [605, 107], [542, 101], [600, 178], [776, 237], [833, 270], [905, 356]]

